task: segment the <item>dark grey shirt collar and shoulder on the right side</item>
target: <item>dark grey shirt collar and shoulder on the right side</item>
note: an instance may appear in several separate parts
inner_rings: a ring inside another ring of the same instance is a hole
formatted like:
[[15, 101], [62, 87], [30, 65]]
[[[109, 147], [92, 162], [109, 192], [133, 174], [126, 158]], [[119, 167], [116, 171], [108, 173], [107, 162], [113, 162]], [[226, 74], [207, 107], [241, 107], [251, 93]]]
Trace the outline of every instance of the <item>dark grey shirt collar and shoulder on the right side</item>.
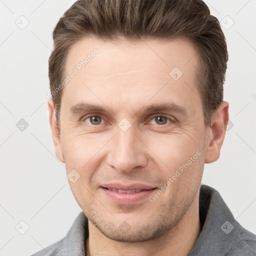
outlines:
[[256, 256], [256, 235], [234, 218], [217, 190], [202, 185], [199, 196], [201, 233], [189, 254]]

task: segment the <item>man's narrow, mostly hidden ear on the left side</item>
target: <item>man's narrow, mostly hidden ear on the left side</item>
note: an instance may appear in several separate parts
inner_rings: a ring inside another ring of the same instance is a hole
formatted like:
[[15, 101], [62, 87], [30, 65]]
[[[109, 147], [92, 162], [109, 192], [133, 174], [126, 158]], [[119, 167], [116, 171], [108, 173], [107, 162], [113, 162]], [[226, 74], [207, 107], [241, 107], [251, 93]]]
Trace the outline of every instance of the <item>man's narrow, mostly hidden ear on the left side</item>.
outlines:
[[55, 154], [61, 162], [64, 162], [62, 147], [60, 144], [60, 135], [59, 135], [59, 130], [56, 122], [55, 109], [54, 109], [52, 99], [48, 100], [48, 110], [49, 110], [49, 123], [51, 128], [51, 134], [52, 134], [52, 139], [55, 147]]

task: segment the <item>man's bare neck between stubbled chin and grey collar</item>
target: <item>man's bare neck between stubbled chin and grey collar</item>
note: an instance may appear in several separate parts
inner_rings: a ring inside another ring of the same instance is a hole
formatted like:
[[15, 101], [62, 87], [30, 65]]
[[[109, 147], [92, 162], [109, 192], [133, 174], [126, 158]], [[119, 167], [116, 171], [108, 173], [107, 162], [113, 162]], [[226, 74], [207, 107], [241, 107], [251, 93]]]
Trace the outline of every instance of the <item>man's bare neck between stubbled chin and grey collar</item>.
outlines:
[[192, 250], [200, 233], [198, 195], [181, 218], [168, 233], [144, 242], [119, 242], [105, 237], [88, 221], [89, 237], [86, 240], [86, 256], [133, 256], [175, 255], [185, 256]]

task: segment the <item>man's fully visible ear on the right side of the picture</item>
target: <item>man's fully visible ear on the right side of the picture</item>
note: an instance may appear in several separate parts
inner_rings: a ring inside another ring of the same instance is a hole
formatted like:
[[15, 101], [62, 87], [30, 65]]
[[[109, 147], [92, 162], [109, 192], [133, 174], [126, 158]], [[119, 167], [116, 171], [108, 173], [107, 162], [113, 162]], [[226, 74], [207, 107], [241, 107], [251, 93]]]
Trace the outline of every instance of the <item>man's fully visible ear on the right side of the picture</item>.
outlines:
[[209, 139], [205, 140], [205, 163], [214, 162], [219, 158], [220, 148], [223, 144], [226, 126], [228, 124], [228, 107], [226, 101], [222, 101], [211, 117], [211, 126], [207, 127], [206, 134]]

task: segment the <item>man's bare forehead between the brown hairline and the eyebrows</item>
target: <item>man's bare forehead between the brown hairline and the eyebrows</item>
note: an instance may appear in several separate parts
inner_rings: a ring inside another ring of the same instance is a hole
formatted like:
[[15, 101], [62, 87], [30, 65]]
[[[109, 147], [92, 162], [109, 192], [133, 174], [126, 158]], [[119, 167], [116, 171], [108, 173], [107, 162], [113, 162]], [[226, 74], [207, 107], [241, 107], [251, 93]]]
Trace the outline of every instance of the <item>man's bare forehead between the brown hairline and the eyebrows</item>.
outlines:
[[133, 42], [83, 38], [68, 52], [64, 76], [74, 70], [75, 75], [64, 86], [61, 101], [75, 104], [91, 99], [110, 107], [121, 101], [133, 105], [172, 98], [189, 108], [190, 103], [200, 103], [197, 64], [195, 47], [183, 38]]

